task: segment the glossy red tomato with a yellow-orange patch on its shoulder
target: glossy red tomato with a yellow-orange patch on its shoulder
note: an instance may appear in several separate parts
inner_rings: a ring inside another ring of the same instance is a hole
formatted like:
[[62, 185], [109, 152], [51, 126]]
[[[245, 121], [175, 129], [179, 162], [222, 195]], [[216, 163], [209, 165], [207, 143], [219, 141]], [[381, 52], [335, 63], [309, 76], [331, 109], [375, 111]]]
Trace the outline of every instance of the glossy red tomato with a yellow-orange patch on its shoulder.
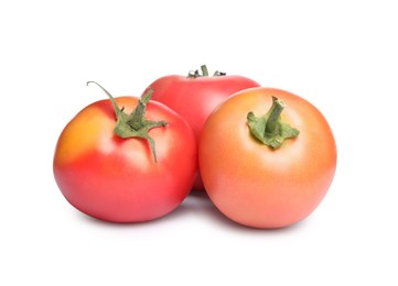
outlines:
[[55, 180], [71, 205], [94, 218], [160, 218], [183, 201], [194, 183], [193, 131], [176, 112], [149, 100], [150, 94], [141, 99], [107, 94], [111, 100], [87, 106], [62, 131]]

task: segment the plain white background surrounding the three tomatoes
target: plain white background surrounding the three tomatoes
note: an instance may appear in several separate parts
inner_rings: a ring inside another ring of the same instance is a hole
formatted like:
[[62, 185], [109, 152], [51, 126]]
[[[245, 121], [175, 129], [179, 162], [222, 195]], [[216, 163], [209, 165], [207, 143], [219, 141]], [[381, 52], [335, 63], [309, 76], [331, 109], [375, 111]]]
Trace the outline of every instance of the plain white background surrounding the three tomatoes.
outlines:
[[[1, 1], [1, 285], [398, 285], [395, 1]], [[239, 227], [205, 196], [111, 224], [75, 210], [52, 158], [72, 117], [152, 80], [250, 77], [314, 103], [335, 179], [303, 222]]]

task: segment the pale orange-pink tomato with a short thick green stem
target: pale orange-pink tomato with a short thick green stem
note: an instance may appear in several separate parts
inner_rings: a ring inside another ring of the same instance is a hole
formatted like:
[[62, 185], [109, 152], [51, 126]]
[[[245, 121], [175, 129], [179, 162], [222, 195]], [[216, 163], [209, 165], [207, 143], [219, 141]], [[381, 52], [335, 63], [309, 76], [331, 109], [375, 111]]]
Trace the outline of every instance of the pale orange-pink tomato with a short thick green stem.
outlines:
[[330, 188], [336, 157], [322, 113], [273, 88], [229, 97], [209, 116], [198, 147], [211, 200], [252, 228], [282, 228], [308, 217]]

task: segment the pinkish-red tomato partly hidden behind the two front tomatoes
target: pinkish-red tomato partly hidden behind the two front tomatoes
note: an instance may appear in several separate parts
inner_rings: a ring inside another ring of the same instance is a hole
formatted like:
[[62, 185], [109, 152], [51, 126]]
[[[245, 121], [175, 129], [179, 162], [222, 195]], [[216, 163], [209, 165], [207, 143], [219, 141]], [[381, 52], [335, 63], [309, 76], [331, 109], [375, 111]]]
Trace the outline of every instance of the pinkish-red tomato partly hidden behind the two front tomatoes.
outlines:
[[[203, 75], [197, 70], [189, 76], [170, 75], [154, 80], [152, 100], [162, 102], [182, 116], [194, 131], [198, 141], [202, 128], [212, 111], [227, 97], [246, 88], [258, 87], [256, 81], [243, 76], [227, 76], [216, 72], [208, 77], [206, 66]], [[198, 175], [195, 189], [204, 189]]]

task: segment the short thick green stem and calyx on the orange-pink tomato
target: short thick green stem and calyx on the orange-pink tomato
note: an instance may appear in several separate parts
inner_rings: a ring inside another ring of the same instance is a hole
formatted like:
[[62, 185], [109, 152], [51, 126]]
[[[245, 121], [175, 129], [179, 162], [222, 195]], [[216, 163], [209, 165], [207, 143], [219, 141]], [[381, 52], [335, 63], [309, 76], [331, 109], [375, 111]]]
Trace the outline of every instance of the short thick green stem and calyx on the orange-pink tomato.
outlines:
[[284, 107], [281, 100], [272, 97], [272, 106], [265, 116], [256, 117], [251, 111], [247, 114], [250, 133], [272, 150], [280, 147], [284, 140], [294, 139], [300, 133], [299, 130], [282, 122], [280, 114]]

